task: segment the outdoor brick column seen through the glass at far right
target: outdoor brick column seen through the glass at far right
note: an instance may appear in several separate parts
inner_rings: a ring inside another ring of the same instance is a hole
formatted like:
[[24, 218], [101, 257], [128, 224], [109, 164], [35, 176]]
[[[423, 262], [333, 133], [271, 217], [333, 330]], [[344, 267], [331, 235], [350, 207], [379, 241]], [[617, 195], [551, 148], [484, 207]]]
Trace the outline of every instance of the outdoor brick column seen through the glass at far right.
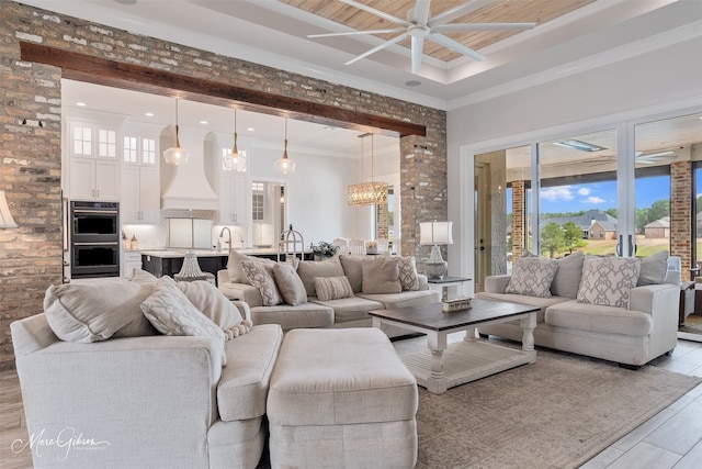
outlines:
[[682, 279], [692, 266], [692, 163], [670, 164], [670, 255], [679, 256]]

